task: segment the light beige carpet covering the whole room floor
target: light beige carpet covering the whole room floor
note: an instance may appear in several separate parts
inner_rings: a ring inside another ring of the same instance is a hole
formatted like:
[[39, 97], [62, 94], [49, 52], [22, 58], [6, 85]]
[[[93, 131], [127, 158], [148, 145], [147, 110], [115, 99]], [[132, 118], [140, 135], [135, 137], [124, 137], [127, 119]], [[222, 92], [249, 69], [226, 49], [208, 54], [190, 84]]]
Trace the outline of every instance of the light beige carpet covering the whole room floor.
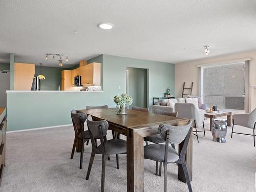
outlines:
[[[234, 135], [227, 143], [212, 141], [209, 124], [206, 137], [200, 133], [193, 143], [193, 191], [255, 191], [256, 147], [252, 136]], [[236, 131], [241, 130], [241, 127]], [[251, 131], [249, 129], [243, 129]], [[109, 134], [111, 136], [111, 134]], [[73, 128], [7, 134], [7, 156], [0, 191], [100, 191], [101, 156], [96, 155], [89, 180], [86, 180], [91, 145], [85, 147], [83, 169], [79, 154], [70, 159]], [[163, 177], [154, 175], [155, 162], [144, 161], [144, 191], [163, 191]], [[167, 191], [188, 191], [177, 179], [178, 167], [168, 165]], [[163, 173], [162, 173], [163, 174]], [[126, 191], [126, 156], [115, 156], [106, 163], [105, 191]]]

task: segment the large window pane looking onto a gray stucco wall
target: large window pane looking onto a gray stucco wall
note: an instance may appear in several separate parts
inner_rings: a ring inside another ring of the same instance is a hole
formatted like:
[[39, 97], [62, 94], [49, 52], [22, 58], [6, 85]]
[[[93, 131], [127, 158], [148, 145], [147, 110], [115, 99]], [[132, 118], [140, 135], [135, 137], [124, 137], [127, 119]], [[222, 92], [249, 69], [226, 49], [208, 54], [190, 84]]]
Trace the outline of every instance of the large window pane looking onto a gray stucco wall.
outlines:
[[245, 63], [202, 67], [202, 97], [219, 109], [245, 109]]

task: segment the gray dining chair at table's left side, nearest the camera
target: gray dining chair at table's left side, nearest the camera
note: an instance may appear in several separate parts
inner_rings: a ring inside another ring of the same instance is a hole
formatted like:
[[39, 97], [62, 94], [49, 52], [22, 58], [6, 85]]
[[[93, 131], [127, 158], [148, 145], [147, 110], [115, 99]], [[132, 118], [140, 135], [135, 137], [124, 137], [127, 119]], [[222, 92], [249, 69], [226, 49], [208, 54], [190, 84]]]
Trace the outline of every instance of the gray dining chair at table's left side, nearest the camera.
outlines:
[[[90, 158], [90, 163], [88, 166], [86, 179], [89, 179], [93, 160], [95, 154], [102, 154], [102, 169], [101, 169], [101, 192], [104, 191], [105, 182], [105, 164], [106, 159], [112, 155], [116, 155], [117, 168], [119, 168], [118, 154], [126, 153], [126, 141], [122, 139], [111, 139], [106, 140], [106, 134], [109, 129], [108, 121], [91, 121], [88, 116], [87, 125], [89, 129], [89, 135], [92, 142], [92, 154]], [[100, 145], [97, 146], [97, 138], [100, 138]]]

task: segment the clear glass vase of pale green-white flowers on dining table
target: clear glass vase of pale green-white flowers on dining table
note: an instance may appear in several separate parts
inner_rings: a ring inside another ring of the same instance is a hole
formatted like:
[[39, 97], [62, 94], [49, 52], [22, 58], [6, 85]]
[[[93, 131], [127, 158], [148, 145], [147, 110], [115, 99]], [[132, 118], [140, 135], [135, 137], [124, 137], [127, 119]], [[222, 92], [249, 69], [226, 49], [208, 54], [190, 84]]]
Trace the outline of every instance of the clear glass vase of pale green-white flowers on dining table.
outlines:
[[116, 103], [116, 114], [125, 115], [127, 114], [127, 106], [133, 103], [132, 97], [126, 94], [116, 95], [114, 97]]

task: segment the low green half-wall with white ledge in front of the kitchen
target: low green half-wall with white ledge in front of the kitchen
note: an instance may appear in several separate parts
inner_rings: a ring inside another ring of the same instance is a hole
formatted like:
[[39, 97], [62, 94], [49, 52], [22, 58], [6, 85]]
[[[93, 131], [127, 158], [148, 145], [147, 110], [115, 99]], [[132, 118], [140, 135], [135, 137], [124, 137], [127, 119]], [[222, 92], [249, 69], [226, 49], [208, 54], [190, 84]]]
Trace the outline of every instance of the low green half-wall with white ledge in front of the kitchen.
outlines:
[[107, 91], [6, 91], [8, 131], [72, 124], [70, 112], [89, 106], [115, 106]]

